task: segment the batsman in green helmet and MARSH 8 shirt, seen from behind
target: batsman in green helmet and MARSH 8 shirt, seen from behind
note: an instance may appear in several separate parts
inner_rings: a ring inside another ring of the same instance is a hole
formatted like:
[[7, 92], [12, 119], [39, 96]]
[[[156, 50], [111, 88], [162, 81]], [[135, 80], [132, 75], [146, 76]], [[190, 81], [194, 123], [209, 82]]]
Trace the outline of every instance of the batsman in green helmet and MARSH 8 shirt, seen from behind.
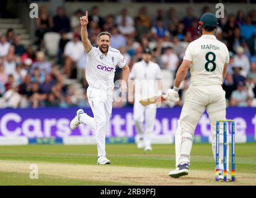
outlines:
[[[202, 35], [188, 45], [175, 77], [174, 88], [167, 90], [167, 98], [170, 101], [179, 101], [179, 86], [191, 65], [191, 85], [185, 95], [185, 103], [175, 134], [176, 169], [169, 173], [173, 178], [188, 174], [193, 134], [201, 114], [206, 110], [210, 118], [214, 156], [216, 121], [226, 119], [225, 92], [221, 85], [226, 75], [229, 51], [226, 45], [216, 40], [214, 36], [217, 25], [214, 14], [206, 13], [201, 16], [198, 29]], [[222, 142], [223, 147], [223, 138], [219, 141]], [[220, 151], [223, 152], [223, 149]], [[220, 152], [219, 156], [223, 157], [221, 154]], [[223, 170], [223, 158], [219, 161], [219, 169]]]

